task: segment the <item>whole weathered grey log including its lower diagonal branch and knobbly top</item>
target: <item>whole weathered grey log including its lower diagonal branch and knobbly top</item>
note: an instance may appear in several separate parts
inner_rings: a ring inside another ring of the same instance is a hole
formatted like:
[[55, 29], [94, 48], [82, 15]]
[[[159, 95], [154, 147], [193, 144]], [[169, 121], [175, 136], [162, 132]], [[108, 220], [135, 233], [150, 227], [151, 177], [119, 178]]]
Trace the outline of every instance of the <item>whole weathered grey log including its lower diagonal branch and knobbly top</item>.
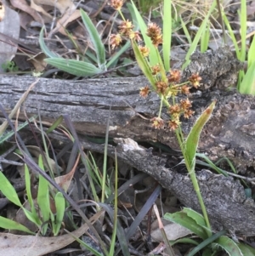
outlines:
[[[184, 134], [189, 133], [201, 111], [212, 100], [217, 100], [212, 118], [201, 134], [199, 151], [207, 153], [212, 160], [227, 156], [241, 171], [247, 167], [254, 168], [255, 100], [252, 96], [236, 93], [234, 89], [218, 90], [233, 82], [233, 76], [236, 77], [240, 65], [231, 54], [211, 54], [209, 59], [202, 60], [205, 65], [198, 62], [202, 58], [199, 56], [194, 56], [192, 65], [184, 71], [184, 77], [199, 71], [204, 79], [203, 87], [210, 90], [190, 94], [196, 114], [189, 121], [183, 122]], [[211, 64], [214, 66], [210, 67]], [[211, 77], [208, 68], [211, 69]], [[0, 102], [4, 108], [12, 109], [34, 81], [32, 77], [0, 77]], [[105, 136], [111, 107], [112, 138], [160, 141], [178, 150], [173, 132], [150, 127], [150, 118], [156, 116], [160, 100], [155, 94], [150, 94], [146, 100], [139, 97], [139, 88], [146, 84], [144, 77], [88, 79], [79, 82], [40, 79], [26, 100], [26, 113], [37, 114], [39, 110], [43, 121], [54, 121], [61, 114], [68, 114], [83, 139], [84, 147], [103, 152], [101, 145], [86, 142], [82, 134]], [[217, 89], [211, 90], [212, 87]], [[166, 110], [163, 111], [163, 117], [167, 119]], [[120, 142], [117, 147], [118, 156], [123, 161], [153, 176], [184, 205], [199, 209], [189, 176], [176, 174], [166, 168], [163, 156], [152, 156], [149, 151], [132, 147], [128, 149], [125, 144], [128, 143]], [[114, 154], [111, 146], [109, 154]], [[212, 222], [243, 235], [255, 235], [255, 207], [252, 201], [246, 200], [239, 181], [204, 171], [198, 174], [198, 178]]]

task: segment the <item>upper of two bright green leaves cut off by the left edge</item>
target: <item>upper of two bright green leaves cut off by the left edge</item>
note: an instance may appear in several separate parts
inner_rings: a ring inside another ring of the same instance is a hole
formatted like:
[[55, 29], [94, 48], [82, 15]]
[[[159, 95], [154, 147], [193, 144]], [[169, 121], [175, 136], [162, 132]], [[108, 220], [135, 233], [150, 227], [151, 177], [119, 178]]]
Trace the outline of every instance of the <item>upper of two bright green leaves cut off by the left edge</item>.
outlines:
[[10, 202], [13, 202], [19, 207], [22, 207], [19, 196], [17, 195], [14, 186], [10, 184], [10, 182], [2, 172], [0, 172], [0, 191], [2, 191], [3, 196], [5, 196]]

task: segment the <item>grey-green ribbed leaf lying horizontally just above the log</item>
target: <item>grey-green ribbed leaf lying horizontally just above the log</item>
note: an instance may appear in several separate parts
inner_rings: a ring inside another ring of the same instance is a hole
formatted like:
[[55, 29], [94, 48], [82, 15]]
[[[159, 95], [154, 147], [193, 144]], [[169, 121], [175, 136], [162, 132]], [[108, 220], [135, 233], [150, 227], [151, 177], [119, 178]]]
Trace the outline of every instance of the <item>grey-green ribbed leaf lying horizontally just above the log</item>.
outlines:
[[101, 70], [95, 65], [80, 60], [50, 58], [45, 59], [44, 61], [49, 65], [53, 65], [56, 68], [59, 68], [61, 71], [65, 71], [77, 77], [91, 77], [101, 72]]

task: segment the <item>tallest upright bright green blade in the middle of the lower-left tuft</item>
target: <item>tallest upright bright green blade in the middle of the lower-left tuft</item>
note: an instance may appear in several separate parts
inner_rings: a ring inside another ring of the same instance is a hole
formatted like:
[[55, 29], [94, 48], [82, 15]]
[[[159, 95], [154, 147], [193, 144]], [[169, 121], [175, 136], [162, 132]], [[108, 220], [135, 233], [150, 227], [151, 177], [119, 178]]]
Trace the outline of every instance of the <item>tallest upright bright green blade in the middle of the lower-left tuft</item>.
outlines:
[[[44, 171], [42, 155], [39, 155], [38, 157], [38, 166]], [[42, 175], [39, 175], [37, 203], [42, 213], [43, 222], [47, 222], [50, 216], [48, 180], [43, 178]], [[48, 225], [45, 225], [46, 230], [47, 230], [47, 226]]]

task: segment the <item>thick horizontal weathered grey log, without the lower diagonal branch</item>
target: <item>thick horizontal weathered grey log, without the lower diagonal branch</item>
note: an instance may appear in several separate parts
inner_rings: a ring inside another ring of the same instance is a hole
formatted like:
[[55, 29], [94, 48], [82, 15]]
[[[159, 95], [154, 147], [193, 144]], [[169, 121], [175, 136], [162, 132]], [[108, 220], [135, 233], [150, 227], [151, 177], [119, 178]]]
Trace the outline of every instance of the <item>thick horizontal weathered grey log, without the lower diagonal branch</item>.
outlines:
[[[0, 77], [0, 102], [6, 109], [12, 109], [34, 81], [32, 77]], [[44, 121], [54, 121], [61, 114], [68, 114], [79, 134], [105, 136], [111, 107], [112, 138], [157, 140], [178, 150], [173, 132], [151, 128], [150, 118], [156, 117], [160, 100], [156, 94], [150, 94], [146, 100], [139, 97], [139, 88], [145, 84], [144, 77], [82, 82], [41, 79], [26, 100], [26, 112], [37, 114], [39, 110]], [[191, 94], [190, 100], [196, 115], [189, 122], [183, 122], [184, 134], [188, 134], [195, 119], [212, 100], [218, 101], [201, 134], [199, 151], [207, 152], [213, 160], [227, 156], [240, 170], [254, 167], [254, 98], [235, 91], [216, 90]], [[167, 118], [166, 111], [163, 117]]]

